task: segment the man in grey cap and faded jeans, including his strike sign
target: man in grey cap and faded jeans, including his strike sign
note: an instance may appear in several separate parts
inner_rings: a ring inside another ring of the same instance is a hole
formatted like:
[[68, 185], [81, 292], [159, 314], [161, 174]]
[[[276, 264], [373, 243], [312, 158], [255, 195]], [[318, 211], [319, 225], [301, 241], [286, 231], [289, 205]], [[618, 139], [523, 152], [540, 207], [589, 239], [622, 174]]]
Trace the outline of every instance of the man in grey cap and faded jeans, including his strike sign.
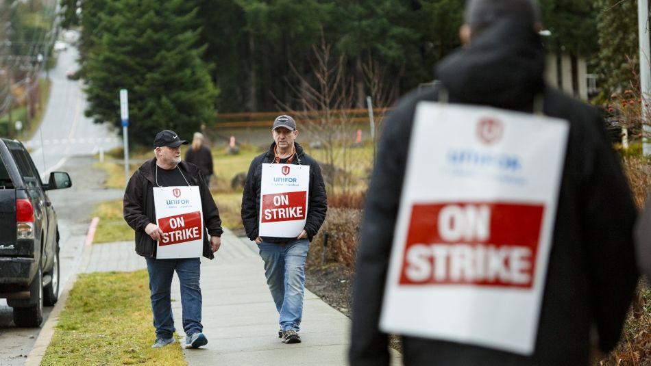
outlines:
[[275, 118], [271, 136], [269, 151], [249, 166], [242, 222], [265, 261], [267, 285], [280, 314], [278, 337], [284, 343], [299, 343], [305, 259], [326, 219], [326, 185], [317, 161], [295, 142], [298, 130], [293, 118]]

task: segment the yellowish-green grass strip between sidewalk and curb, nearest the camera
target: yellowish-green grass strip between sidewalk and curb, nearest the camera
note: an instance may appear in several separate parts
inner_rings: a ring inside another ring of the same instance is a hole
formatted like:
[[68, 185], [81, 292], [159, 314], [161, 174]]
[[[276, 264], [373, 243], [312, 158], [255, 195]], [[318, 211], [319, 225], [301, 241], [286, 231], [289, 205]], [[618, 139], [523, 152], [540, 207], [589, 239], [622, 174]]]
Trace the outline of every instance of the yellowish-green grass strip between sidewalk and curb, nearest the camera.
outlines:
[[147, 270], [80, 274], [41, 365], [187, 365], [151, 323]]

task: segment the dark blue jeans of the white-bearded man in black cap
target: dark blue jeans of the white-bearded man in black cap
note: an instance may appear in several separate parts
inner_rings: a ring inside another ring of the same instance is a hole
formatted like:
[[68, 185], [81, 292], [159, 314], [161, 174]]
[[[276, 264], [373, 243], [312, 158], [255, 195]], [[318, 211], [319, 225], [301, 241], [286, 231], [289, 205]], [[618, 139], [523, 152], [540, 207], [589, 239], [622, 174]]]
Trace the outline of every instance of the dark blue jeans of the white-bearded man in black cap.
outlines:
[[199, 258], [153, 259], [147, 258], [149, 291], [151, 291], [151, 312], [156, 337], [169, 339], [174, 333], [170, 290], [176, 271], [181, 283], [181, 306], [183, 330], [186, 335], [202, 332], [201, 325], [201, 261]]

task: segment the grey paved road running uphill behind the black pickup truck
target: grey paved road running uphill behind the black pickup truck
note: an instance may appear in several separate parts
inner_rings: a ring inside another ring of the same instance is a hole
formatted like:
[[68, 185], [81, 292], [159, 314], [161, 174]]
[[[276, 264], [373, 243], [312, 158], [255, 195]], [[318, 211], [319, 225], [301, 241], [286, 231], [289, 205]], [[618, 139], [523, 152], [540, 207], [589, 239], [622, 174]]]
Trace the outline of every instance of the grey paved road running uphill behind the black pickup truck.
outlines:
[[[79, 266], [79, 257], [97, 202], [120, 198], [122, 192], [103, 189], [103, 174], [93, 170], [93, 153], [120, 146], [121, 139], [103, 125], [84, 116], [86, 101], [80, 81], [66, 78], [68, 70], [77, 69], [77, 51], [69, 48], [59, 55], [51, 70], [52, 90], [41, 129], [34, 139], [25, 142], [32, 159], [43, 176], [53, 170], [71, 174], [73, 187], [49, 192], [56, 209], [60, 231], [60, 289]], [[45, 308], [47, 319], [51, 307]], [[40, 328], [16, 328], [12, 308], [0, 300], [0, 365], [21, 366], [32, 350]]]

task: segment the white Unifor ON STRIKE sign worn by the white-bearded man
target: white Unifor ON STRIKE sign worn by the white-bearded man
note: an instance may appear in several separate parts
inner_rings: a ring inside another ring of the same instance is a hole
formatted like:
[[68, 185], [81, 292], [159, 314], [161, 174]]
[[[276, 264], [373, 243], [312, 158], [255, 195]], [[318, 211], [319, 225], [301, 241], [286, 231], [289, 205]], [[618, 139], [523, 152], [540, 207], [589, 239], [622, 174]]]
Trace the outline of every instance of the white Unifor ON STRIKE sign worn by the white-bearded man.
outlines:
[[204, 248], [204, 214], [197, 186], [154, 187], [157, 224], [162, 230], [156, 259], [198, 258]]

